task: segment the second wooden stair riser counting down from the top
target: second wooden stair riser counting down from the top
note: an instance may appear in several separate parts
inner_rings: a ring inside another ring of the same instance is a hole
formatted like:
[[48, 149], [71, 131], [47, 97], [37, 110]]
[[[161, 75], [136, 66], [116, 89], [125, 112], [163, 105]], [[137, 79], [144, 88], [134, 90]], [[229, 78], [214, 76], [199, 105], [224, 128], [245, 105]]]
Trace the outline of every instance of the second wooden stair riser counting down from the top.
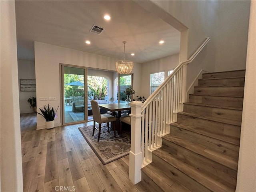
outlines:
[[200, 79], [198, 80], [198, 86], [200, 87], [233, 87], [244, 86], [244, 78], [232, 78], [232, 79]]

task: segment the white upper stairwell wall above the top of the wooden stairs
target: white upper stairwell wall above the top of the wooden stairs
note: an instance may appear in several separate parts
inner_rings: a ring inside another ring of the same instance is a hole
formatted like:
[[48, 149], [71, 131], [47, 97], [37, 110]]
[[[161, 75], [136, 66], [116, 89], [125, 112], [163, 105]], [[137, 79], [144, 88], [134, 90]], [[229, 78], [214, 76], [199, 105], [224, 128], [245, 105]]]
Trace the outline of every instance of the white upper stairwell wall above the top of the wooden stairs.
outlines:
[[[188, 65], [188, 82], [194, 80], [201, 69], [214, 72], [245, 68], [250, 1], [138, 2], [163, 20], [169, 14], [188, 28], [181, 32], [180, 58], [189, 58], [205, 38], [211, 38], [204, 54]], [[168, 23], [172, 25], [172, 21]], [[174, 22], [173, 26], [177, 24]]]

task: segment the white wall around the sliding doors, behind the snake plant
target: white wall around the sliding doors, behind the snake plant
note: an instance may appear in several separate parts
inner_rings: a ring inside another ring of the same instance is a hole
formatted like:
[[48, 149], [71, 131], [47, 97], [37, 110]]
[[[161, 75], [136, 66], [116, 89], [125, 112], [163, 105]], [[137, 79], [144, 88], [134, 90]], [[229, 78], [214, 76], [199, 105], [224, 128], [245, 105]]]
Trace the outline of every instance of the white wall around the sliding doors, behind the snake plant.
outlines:
[[[50, 44], [35, 42], [36, 98], [37, 110], [40, 106], [50, 104], [57, 107], [60, 102], [60, 63], [89, 68], [115, 71], [116, 58], [90, 54]], [[140, 82], [141, 66], [134, 64], [134, 82]], [[139, 90], [140, 84], [134, 84]], [[40, 101], [40, 97], [56, 97], [56, 101]], [[55, 126], [60, 126], [60, 110], [57, 112]], [[45, 128], [45, 120], [37, 115], [37, 128]]]

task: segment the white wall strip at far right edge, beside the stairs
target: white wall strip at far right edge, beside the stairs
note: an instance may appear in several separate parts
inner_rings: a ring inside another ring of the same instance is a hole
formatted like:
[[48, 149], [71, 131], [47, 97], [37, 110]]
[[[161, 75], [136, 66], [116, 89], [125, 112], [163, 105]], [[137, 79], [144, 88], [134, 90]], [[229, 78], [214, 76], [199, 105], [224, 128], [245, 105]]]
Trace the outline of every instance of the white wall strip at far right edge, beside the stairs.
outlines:
[[256, 191], [256, 1], [251, 1], [237, 192]]

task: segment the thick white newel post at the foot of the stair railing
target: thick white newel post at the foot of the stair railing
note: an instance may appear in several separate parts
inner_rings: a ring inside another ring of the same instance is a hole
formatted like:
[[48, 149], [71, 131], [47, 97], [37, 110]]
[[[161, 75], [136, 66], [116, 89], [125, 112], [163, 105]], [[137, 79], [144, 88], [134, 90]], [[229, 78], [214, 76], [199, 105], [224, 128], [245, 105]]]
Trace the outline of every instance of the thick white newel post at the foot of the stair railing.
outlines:
[[133, 184], [141, 181], [141, 108], [142, 102], [130, 102], [131, 106], [131, 150], [129, 157], [129, 179]]

